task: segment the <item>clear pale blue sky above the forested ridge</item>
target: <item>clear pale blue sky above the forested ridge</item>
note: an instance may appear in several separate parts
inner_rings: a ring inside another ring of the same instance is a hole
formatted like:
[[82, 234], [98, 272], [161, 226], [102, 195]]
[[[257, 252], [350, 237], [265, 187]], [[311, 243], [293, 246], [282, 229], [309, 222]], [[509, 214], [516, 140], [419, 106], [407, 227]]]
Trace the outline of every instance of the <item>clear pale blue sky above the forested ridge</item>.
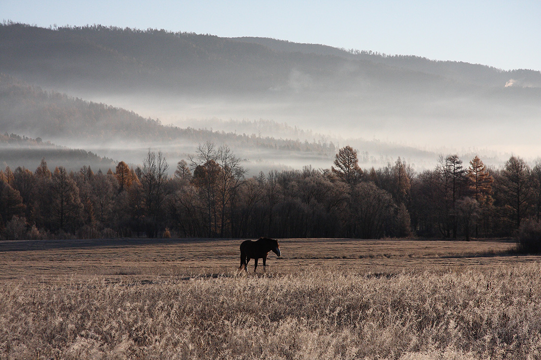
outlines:
[[261, 36], [541, 70], [541, 1], [1, 0], [0, 18]]

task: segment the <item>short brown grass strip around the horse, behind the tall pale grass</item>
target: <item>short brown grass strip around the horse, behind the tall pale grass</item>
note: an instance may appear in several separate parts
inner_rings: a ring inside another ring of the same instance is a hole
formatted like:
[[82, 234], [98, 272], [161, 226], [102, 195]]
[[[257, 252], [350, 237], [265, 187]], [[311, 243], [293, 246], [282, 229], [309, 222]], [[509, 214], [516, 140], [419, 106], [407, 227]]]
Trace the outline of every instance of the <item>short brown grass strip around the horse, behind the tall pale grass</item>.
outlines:
[[[240, 243], [220, 239], [0, 242], [0, 281], [22, 277], [46, 281], [74, 273], [91, 277], [223, 274], [240, 265]], [[509, 256], [512, 248], [514, 243], [508, 242], [280, 239], [282, 257], [271, 253], [268, 269], [278, 274], [306, 268], [410, 271], [432, 265], [456, 268], [530, 261]]]

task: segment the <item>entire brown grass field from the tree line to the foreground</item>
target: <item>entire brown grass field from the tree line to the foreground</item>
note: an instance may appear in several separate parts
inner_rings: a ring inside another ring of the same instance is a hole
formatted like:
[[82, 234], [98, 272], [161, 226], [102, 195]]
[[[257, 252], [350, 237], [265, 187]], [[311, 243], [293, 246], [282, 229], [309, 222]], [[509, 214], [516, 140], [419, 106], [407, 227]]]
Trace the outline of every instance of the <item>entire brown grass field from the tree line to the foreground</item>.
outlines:
[[503, 241], [0, 242], [0, 358], [541, 358], [541, 257]]

